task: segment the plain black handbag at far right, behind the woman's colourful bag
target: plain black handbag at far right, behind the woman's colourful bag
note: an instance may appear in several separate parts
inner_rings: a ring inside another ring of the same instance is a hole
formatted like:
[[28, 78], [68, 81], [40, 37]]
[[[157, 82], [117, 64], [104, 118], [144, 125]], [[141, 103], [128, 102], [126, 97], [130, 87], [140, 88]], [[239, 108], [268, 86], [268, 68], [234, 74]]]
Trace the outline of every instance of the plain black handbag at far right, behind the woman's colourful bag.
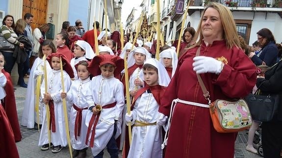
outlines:
[[245, 97], [247, 101], [252, 118], [256, 121], [268, 122], [271, 121], [279, 108], [278, 94], [259, 94], [259, 89], [263, 82], [258, 86], [256, 92], [250, 93]]

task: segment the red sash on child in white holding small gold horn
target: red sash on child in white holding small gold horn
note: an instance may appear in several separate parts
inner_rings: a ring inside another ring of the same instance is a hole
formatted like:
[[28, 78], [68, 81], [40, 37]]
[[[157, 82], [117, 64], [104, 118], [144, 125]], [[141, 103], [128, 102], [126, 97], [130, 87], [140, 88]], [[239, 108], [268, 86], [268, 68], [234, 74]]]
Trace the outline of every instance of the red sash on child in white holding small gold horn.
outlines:
[[[116, 104], [117, 104], [117, 102], [114, 102], [114, 103], [105, 105], [105, 106], [103, 106], [102, 108], [103, 108], [103, 109], [113, 108], [113, 107], [116, 106]], [[94, 108], [95, 108], [95, 107], [94, 107]], [[100, 113], [101, 113], [101, 112], [100, 112]], [[100, 113], [98, 113], [98, 114], [92, 114], [91, 119], [90, 119], [90, 122], [89, 122], [89, 125], [88, 125], [85, 144], [86, 144], [86, 145], [88, 144], [89, 134], [90, 134], [90, 131], [91, 131], [91, 127], [93, 126], [93, 130], [92, 130], [92, 134], [91, 134], [91, 138], [90, 138], [90, 147], [91, 147], [91, 148], [93, 148], [93, 146], [94, 146], [95, 129], [96, 129], [96, 125], [97, 125], [97, 123], [98, 123], [99, 117], [100, 117]], [[94, 120], [95, 120], [95, 122], [94, 122]]]

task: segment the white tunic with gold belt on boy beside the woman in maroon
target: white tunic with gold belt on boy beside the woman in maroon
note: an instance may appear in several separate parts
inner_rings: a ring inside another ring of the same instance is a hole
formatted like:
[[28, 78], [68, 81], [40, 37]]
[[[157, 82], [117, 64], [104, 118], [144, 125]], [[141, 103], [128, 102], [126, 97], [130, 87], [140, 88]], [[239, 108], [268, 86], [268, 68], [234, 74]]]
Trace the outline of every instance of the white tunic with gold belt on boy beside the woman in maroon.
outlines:
[[[158, 107], [153, 94], [145, 91], [135, 101], [133, 111], [131, 111], [133, 117], [131, 125], [135, 120], [155, 123], [159, 116]], [[161, 127], [157, 125], [133, 126], [128, 158], [162, 158], [161, 143]]]

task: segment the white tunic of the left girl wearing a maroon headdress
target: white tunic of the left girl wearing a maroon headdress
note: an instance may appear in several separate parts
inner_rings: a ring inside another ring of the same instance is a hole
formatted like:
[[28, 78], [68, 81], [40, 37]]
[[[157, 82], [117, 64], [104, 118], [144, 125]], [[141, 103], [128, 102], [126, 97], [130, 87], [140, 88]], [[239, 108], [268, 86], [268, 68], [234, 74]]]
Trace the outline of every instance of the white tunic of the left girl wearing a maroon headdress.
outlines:
[[[53, 103], [54, 103], [54, 114], [55, 114], [55, 125], [56, 125], [56, 132], [52, 132], [51, 129], [51, 143], [54, 146], [61, 145], [66, 146], [67, 142], [67, 135], [66, 135], [66, 128], [65, 128], [65, 116], [64, 116], [64, 109], [63, 109], [63, 102], [61, 100], [61, 92], [62, 92], [62, 82], [61, 82], [61, 70], [51, 70], [48, 73], [48, 92], [51, 94]], [[65, 70], [63, 70], [64, 76], [64, 86], [65, 91], [69, 91], [71, 87], [71, 78], [67, 74]], [[41, 96], [44, 98], [45, 93], [45, 84], [44, 79], [41, 85]], [[67, 104], [70, 107], [70, 105]], [[48, 125], [47, 125], [47, 116], [46, 116], [46, 107], [44, 107], [44, 118], [42, 129], [40, 132], [39, 143], [38, 145], [44, 145], [49, 143], [48, 140]]]

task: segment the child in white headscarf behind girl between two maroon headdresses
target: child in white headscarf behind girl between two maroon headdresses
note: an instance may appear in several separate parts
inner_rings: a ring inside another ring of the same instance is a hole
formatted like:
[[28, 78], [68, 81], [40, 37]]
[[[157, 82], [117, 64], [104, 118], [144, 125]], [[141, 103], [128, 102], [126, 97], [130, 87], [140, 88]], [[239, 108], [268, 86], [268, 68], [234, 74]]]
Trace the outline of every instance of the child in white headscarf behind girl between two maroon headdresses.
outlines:
[[77, 40], [75, 44], [74, 54], [75, 54], [75, 58], [71, 60], [70, 64], [75, 74], [75, 77], [72, 80], [77, 80], [78, 76], [77, 76], [77, 70], [75, 68], [75, 65], [77, 65], [77, 63], [80, 61], [87, 61], [87, 59], [88, 60], [93, 59], [95, 57], [95, 53], [92, 47], [87, 42], [82, 40]]

